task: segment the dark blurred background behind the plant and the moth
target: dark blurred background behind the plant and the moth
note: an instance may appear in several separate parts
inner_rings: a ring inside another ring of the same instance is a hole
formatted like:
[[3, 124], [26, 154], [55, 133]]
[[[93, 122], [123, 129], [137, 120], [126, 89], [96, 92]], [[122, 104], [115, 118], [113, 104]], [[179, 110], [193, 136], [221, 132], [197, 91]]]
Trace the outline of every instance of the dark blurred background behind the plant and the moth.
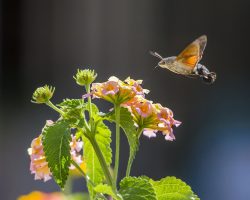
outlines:
[[[55, 103], [81, 97], [72, 78], [79, 66], [95, 69], [99, 82], [143, 79], [148, 98], [183, 122], [174, 142], [141, 138], [132, 175], [176, 176], [203, 200], [250, 199], [249, 1], [2, 0], [0, 8], [0, 199], [58, 190], [29, 172], [31, 140], [58, 117], [30, 100], [44, 84], [56, 87]], [[149, 50], [177, 55], [202, 34], [201, 63], [217, 73], [213, 85], [154, 69]], [[120, 176], [127, 150], [122, 137]]]

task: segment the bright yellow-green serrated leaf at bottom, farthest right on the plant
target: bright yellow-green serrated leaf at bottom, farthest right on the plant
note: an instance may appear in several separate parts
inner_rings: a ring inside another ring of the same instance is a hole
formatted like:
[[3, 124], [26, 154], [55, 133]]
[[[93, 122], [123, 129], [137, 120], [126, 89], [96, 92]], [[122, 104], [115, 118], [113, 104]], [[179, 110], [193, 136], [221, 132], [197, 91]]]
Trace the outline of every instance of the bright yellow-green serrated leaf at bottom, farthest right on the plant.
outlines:
[[190, 186], [175, 177], [150, 180], [158, 200], [199, 200]]

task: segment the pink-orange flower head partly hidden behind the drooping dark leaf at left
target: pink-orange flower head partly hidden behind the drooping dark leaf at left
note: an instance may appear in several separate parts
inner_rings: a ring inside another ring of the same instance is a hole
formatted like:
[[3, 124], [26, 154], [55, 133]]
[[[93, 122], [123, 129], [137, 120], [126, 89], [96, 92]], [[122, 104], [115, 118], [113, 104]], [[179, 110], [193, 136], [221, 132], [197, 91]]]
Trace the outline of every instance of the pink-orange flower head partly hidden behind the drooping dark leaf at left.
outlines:
[[[47, 121], [47, 125], [51, 125], [53, 122], [50, 120]], [[82, 156], [80, 151], [83, 147], [83, 142], [76, 140], [76, 137], [71, 135], [72, 141], [70, 142], [71, 147], [71, 158], [80, 165], [82, 161]], [[43, 179], [44, 182], [51, 179], [52, 173], [48, 167], [48, 163], [45, 158], [42, 145], [42, 135], [40, 134], [37, 138], [33, 139], [31, 142], [31, 147], [28, 149], [28, 154], [30, 155], [30, 171], [31, 174], [35, 174], [35, 180]], [[73, 165], [70, 166], [70, 169], [74, 169]]]

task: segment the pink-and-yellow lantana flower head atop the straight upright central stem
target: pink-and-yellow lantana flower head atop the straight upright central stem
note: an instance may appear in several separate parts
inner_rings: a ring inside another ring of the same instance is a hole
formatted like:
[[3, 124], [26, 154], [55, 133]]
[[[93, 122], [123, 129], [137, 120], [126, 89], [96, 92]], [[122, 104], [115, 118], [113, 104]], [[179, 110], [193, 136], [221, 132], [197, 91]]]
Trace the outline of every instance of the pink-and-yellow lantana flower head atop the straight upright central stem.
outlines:
[[130, 101], [137, 95], [144, 96], [148, 90], [143, 89], [141, 81], [135, 81], [127, 78], [125, 81], [119, 80], [115, 76], [111, 76], [107, 82], [93, 83], [93, 97], [102, 98], [114, 104], [122, 104]]

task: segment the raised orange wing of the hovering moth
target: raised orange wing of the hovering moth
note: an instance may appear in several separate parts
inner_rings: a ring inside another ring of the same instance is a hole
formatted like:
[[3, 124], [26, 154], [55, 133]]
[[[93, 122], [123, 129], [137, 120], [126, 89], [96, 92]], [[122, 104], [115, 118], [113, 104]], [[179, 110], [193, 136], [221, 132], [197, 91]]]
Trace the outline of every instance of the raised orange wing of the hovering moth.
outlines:
[[176, 58], [176, 60], [190, 69], [194, 69], [201, 60], [207, 44], [207, 36], [203, 35], [189, 44]]

